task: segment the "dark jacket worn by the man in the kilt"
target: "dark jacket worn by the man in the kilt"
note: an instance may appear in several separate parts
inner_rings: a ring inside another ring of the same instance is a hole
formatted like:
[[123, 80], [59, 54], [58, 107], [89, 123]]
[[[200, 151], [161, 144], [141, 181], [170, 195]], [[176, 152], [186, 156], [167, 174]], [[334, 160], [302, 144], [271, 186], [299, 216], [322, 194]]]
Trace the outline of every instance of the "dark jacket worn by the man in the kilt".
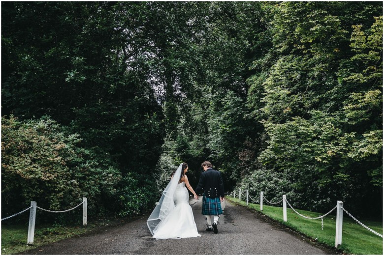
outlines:
[[197, 184], [196, 193], [204, 192], [208, 198], [224, 198], [224, 183], [222, 173], [220, 171], [208, 168], [200, 174], [199, 183]]

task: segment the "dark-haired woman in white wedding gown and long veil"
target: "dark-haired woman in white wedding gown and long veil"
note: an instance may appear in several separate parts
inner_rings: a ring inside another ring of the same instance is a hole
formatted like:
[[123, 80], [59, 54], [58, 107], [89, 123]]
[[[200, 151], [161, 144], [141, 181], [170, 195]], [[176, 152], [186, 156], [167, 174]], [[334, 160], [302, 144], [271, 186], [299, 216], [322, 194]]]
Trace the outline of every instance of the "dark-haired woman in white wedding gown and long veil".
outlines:
[[198, 197], [188, 181], [187, 171], [187, 163], [182, 163], [172, 173], [171, 181], [162, 192], [158, 205], [149, 216], [147, 226], [153, 238], [178, 239], [201, 236], [197, 232], [192, 208], [188, 202], [187, 188], [192, 192], [195, 199]]

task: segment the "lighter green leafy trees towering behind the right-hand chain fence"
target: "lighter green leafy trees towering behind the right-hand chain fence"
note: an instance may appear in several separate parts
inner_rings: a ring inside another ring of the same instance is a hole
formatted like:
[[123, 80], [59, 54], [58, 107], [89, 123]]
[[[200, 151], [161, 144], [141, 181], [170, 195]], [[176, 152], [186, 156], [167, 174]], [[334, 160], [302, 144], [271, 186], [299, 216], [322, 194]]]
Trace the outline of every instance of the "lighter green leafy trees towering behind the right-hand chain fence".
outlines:
[[[249, 107], [267, 138], [257, 160], [288, 179], [284, 189], [304, 209], [344, 200], [364, 212], [367, 198], [383, 187], [382, 17], [344, 19], [368, 9], [379, 13], [371, 4], [360, 11], [339, 2], [280, 4], [271, 22], [276, 60], [248, 80]], [[238, 186], [268, 187], [259, 176], [255, 186], [244, 182]], [[374, 212], [381, 214], [380, 207]]]

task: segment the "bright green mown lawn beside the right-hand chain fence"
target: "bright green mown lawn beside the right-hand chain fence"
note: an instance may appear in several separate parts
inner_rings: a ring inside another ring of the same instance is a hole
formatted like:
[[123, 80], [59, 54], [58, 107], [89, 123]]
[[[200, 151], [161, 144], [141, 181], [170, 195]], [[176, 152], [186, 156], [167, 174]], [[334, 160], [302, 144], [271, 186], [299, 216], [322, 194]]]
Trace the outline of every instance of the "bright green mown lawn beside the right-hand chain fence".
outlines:
[[[247, 205], [245, 201], [226, 197], [229, 201], [236, 202], [240, 205], [250, 207], [258, 212], [276, 220], [289, 228], [296, 230], [312, 239], [316, 239], [320, 244], [335, 247], [336, 234], [336, 210], [323, 218], [324, 228], [321, 230], [321, 219], [309, 220], [297, 215], [287, 204], [287, 222], [283, 221], [283, 207], [275, 207], [263, 204], [263, 211], [260, 211], [260, 205], [250, 203]], [[307, 217], [319, 217], [324, 213], [310, 212], [295, 209], [300, 214]], [[330, 209], [329, 209], [330, 210]], [[347, 209], [348, 210], [348, 209]], [[353, 213], [351, 213], [353, 215]], [[376, 232], [383, 234], [383, 223], [374, 221], [361, 221], [365, 226], [372, 228]], [[375, 235], [371, 231], [362, 227], [347, 214], [343, 215], [343, 235], [342, 244], [338, 249], [347, 254], [356, 255], [383, 255], [383, 238]]]

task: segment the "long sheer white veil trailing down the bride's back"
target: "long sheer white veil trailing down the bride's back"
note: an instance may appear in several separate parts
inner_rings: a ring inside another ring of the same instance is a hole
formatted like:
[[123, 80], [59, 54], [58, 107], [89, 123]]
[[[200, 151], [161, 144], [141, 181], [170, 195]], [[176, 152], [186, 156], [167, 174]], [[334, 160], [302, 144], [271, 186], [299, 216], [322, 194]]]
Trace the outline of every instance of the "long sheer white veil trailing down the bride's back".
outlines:
[[173, 174], [171, 181], [169, 181], [168, 185], [162, 192], [159, 203], [156, 205], [155, 209], [152, 211], [147, 220], [147, 226], [152, 235], [154, 234], [154, 230], [156, 231], [160, 222], [175, 208], [173, 195], [175, 194], [177, 184], [180, 180], [182, 167], [183, 164], [180, 164], [175, 171], [175, 174]]

